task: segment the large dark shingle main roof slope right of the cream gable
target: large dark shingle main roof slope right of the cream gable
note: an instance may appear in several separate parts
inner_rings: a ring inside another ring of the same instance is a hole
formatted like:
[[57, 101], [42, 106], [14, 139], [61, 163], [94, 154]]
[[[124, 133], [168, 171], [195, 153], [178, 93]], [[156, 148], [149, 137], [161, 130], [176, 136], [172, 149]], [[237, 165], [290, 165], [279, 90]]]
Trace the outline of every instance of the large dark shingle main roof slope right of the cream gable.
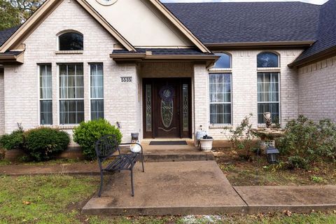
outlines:
[[301, 2], [165, 3], [203, 43], [314, 41], [321, 6]]

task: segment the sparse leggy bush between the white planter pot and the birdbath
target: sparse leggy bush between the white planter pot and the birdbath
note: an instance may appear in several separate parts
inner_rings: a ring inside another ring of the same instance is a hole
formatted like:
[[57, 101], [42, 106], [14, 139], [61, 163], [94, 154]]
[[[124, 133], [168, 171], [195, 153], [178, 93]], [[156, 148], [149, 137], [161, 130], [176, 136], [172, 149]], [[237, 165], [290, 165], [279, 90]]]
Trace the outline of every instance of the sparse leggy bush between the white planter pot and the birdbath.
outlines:
[[255, 138], [253, 132], [251, 132], [251, 117], [252, 114], [246, 116], [235, 129], [225, 128], [225, 130], [228, 130], [230, 133], [228, 138], [230, 139], [232, 147], [237, 151], [241, 151], [242, 153], [240, 153], [240, 155], [246, 160], [251, 160], [251, 155], [253, 153], [253, 139]]

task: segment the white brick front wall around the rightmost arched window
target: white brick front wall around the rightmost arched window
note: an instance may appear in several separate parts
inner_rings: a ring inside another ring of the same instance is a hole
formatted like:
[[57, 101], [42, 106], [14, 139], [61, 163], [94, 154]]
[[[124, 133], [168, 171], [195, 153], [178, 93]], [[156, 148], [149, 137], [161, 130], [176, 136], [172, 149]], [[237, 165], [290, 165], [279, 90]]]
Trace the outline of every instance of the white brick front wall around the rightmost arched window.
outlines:
[[[249, 113], [253, 113], [253, 127], [258, 127], [257, 55], [262, 51], [280, 55], [281, 125], [298, 115], [297, 75], [287, 64], [302, 50], [231, 50], [228, 53], [232, 55], [232, 127], [239, 125]], [[215, 139], [226, 139], [223, 127], [210, 128], [209, 134]]]

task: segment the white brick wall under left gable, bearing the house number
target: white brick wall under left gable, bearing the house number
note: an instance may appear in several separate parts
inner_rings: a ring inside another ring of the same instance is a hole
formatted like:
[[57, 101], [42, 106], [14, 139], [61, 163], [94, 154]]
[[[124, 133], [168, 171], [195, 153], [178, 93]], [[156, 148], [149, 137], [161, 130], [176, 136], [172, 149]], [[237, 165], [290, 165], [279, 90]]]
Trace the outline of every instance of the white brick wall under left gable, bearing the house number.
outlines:
[[[84, 35], [82, 55], [56, 55], [57, 34], [66, 29]], [[105, 117], [121, 124], [124, 141], [137, 130], [137, 73], [133, 64], [118, 65], [109, 57], [117, 41], [76, 1], [63, 1], [25, 41], [25, 64], [5, 67], [6, 132], [22, 123], [25, 129], [39, 125], [38, 63], [52, 63], [52, 106], [54, 125], [59, 124], [57, 63], [78, 62], [84, 66], [85, 120], [90, 120], [90, 62], [104, 63]], [[132, 76], [133, 83], [121, 83], [121, 76]], [[3, 108], [3, 107], [1, 107]]]

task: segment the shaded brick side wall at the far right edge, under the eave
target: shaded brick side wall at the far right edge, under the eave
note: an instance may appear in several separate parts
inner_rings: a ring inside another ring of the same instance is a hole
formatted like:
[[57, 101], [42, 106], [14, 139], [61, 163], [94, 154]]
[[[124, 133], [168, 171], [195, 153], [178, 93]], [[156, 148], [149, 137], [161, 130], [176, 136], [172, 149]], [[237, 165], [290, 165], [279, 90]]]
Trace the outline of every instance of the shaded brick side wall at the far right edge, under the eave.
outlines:
[[336, 57], [301, 67], [298, 73], [299, 113], [336, 122]]

